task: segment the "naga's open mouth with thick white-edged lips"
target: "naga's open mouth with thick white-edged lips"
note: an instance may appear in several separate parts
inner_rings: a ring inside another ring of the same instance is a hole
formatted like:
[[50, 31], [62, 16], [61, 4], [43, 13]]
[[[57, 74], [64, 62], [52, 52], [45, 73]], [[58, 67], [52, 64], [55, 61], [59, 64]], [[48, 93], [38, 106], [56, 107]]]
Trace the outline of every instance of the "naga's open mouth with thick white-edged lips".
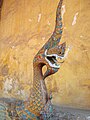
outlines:
[[[48, 64], [53, 67], [53, 68], [57, 68], [59, 69], [60, 68], [60, 65], [59, 65], [59, 62], [58, 62], [58, 58], [59, 59], [62, 59], [62, 57], [58, 56], [57, 54], [51, 54], [51, 55], [48, 55], [47, 54], [47, 51], [45, 51], [45, 59], [46, 61], [48, 62]], [[63, 63], [63, 62], [61, 62]]]

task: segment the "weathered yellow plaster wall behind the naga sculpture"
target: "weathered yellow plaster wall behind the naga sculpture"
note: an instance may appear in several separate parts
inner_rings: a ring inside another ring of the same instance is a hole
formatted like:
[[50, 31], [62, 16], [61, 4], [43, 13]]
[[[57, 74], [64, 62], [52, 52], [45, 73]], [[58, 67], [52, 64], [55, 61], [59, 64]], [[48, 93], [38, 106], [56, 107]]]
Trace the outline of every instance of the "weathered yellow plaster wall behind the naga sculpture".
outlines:
[[[0, 22], [1, 97], [29, 96], [32, 61], [53, 32], [58, 2], [4, 0]], [[90, 0], [64, 0], [62, 41], [72, 49], [59, 72], [46, 81], [48, 90], [53, 91], [54, 104], [90, 109], [89, 4]]]

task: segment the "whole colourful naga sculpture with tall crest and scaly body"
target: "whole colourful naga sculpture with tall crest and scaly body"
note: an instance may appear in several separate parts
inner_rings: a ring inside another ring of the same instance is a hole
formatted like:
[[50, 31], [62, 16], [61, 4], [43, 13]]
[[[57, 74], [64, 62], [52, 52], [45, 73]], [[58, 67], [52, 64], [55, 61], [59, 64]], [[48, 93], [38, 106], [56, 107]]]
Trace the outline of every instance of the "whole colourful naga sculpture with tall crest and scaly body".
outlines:
[[[28, 101], [16, 100], [14, 98], [0, 100], [0, 120], [40, 120], [40, 112], [48, 103], [48, 93], [45, 78], [56, 73], [60, 65], [57, 59], [63, 59], [66, 43], [59, 44], [62, 36], [61, 7], [60, 0], [56, 11], [56, 25], [53, 34], [45, 45], [35, 55], [33, 60], [33, 92]], [[42, 73], [43, 66], [47, 66], [45, 74]]]

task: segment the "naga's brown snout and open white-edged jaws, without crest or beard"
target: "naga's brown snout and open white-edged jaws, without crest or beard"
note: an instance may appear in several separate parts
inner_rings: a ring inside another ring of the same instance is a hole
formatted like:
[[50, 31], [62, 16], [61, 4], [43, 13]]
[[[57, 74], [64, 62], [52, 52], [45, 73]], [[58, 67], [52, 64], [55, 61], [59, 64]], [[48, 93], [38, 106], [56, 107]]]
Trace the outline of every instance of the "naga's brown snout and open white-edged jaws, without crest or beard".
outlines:
[[[48, 62], [49, 66], [54, 69], [59, 69], [58, 59], [62, 60], [65, 55], [66, 43], [55, 46], [49, 50], [45, 50], [45, 60]], [[62, 63], [62, 62], [61, 62]]]

